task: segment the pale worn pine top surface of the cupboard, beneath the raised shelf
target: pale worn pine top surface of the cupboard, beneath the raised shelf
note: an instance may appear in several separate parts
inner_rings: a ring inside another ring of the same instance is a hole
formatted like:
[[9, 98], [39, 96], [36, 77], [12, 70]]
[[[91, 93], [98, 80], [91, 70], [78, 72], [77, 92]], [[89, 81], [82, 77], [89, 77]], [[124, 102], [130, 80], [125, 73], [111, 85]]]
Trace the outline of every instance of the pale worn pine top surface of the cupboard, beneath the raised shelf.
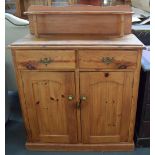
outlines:
[[50, 38], [36, 38], [28, 34], [11, 44], [14, 49], [137, 49], [142, 42], [134, 34], [121, 38], [104, 39], [100, 35], [54, 35]]

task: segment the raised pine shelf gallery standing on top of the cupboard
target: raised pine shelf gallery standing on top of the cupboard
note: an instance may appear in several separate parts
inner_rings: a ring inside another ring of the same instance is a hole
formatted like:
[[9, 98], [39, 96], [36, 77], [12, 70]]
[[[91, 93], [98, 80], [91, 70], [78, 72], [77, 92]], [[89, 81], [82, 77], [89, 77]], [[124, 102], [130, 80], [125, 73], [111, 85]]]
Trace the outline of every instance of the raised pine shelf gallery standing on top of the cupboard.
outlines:
[[30, 21], [30, 32], [37, 37], [52, 34], [102, 34], [104, 37], [118, 37], [131, 33], [132, 11], [126, 5], [30, 6], [26, 14]]

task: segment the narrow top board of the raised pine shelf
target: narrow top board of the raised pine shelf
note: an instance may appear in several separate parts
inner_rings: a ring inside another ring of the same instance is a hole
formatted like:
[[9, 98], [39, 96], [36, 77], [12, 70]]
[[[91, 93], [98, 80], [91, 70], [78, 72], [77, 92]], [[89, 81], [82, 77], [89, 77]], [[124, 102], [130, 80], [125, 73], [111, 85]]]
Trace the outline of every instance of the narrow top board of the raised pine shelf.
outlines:
[[65, 7], [37, 6], [31, 5], [25, 14], [131, 14], [129, 5], [117, 6], [91, 6], [91, 5], [71, 5]]

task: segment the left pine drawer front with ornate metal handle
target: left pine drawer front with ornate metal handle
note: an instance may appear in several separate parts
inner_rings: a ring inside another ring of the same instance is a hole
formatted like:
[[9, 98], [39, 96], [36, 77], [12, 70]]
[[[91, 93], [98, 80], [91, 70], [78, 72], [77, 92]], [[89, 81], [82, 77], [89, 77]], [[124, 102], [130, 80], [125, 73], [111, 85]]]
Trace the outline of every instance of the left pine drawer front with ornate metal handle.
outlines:
[[16, 64], [19, 69], [74, 69], [74, 50], [17, 50]]

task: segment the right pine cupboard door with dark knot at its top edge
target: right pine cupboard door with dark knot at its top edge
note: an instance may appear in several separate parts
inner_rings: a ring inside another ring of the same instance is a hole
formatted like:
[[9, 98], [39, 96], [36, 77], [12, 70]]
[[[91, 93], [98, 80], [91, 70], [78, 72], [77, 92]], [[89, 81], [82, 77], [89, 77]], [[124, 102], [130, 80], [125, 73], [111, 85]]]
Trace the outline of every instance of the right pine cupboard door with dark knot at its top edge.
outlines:
[[83, 143], [127, 142], [132, 72], [81, 72]]

